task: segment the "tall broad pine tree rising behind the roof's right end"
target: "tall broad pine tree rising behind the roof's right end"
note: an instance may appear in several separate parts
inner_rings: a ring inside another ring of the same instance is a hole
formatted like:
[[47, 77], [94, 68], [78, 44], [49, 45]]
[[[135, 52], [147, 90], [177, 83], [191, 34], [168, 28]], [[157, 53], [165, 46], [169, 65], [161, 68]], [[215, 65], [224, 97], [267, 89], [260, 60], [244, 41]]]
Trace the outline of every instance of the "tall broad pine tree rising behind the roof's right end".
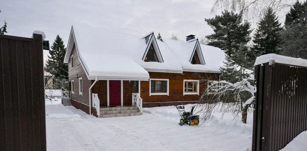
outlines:
[[214, 33], [207, 35], [208, 45], [219, 47], [228, 57], [232, 57], [235, 51], [239, 50], [240, 45], [246, 45], [251, 40], [251, 23], [243, 22], [242, 13], [236, 14], [224, 10], [222, 15], [214, 18], [205, 19]]

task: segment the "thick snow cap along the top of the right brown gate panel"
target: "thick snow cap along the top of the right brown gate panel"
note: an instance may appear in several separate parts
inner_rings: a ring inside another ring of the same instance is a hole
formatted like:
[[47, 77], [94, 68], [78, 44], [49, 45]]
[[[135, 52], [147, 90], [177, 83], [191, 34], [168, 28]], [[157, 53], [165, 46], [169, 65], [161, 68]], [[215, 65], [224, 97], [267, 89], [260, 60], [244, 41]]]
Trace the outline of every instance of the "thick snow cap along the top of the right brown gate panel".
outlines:
[[274, 60], [276, 63], [307, 67], [306, 59], [286, 57], [286, 56], [282, 56], [282, 55], [278, 55], [274, 53], [265, 54], [265, 55], [257, 57], [255, 61], [255, 65], [263, 64], [263, 63], [269, 62], [270, 60]]

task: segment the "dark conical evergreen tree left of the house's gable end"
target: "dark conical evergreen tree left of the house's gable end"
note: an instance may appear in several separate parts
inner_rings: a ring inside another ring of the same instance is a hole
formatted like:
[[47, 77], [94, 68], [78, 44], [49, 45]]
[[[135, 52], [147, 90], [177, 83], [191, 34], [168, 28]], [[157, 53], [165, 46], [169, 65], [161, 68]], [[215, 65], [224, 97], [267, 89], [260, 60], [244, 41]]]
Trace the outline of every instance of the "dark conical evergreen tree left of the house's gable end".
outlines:
[[47, 72], [55, 76], [56, 79], [68, 80], [68, 65], [64, 64], [66, 48], [63, 40], [59, 35], [56, 36], [51, 50], [49, 51], [48, 60], [46, 62]]

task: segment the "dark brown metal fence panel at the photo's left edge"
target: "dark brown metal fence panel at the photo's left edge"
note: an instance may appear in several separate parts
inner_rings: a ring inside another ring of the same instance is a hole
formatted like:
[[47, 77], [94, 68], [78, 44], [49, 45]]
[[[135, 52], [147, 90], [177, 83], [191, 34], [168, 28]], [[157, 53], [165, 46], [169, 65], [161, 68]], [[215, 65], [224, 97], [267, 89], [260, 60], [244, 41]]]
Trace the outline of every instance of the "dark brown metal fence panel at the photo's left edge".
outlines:
[[42, 35], [0, 35], [0, 150], [46, 150]]

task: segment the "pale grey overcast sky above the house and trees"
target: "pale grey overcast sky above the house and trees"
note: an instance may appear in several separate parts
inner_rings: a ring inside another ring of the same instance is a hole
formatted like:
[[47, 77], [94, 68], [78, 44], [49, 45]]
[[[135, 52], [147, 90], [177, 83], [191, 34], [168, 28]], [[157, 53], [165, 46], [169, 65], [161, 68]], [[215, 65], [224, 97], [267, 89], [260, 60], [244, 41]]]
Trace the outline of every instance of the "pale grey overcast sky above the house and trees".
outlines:
[[[169, 38], [174, 33], [185, 40], [190, 34], [198, 37], [211, 34], [204, 18], [215, 15], [210, 13], [214, 0], [1, 1], [5, 2], [0, 2], [0, 25], [6, 20], [7, 35], [31, 37], [34, 30], [40, 30], [45, 32], [50, 45], [60, 35], [65, 46], [72, 25], [138, 36], [154, 31], [155, 35], [160, 32], [162, 37]], [[287, 11], [279, 12], [282, 22]], [[252, 28], [256, 28], [257, 20], [251, 22]]]

